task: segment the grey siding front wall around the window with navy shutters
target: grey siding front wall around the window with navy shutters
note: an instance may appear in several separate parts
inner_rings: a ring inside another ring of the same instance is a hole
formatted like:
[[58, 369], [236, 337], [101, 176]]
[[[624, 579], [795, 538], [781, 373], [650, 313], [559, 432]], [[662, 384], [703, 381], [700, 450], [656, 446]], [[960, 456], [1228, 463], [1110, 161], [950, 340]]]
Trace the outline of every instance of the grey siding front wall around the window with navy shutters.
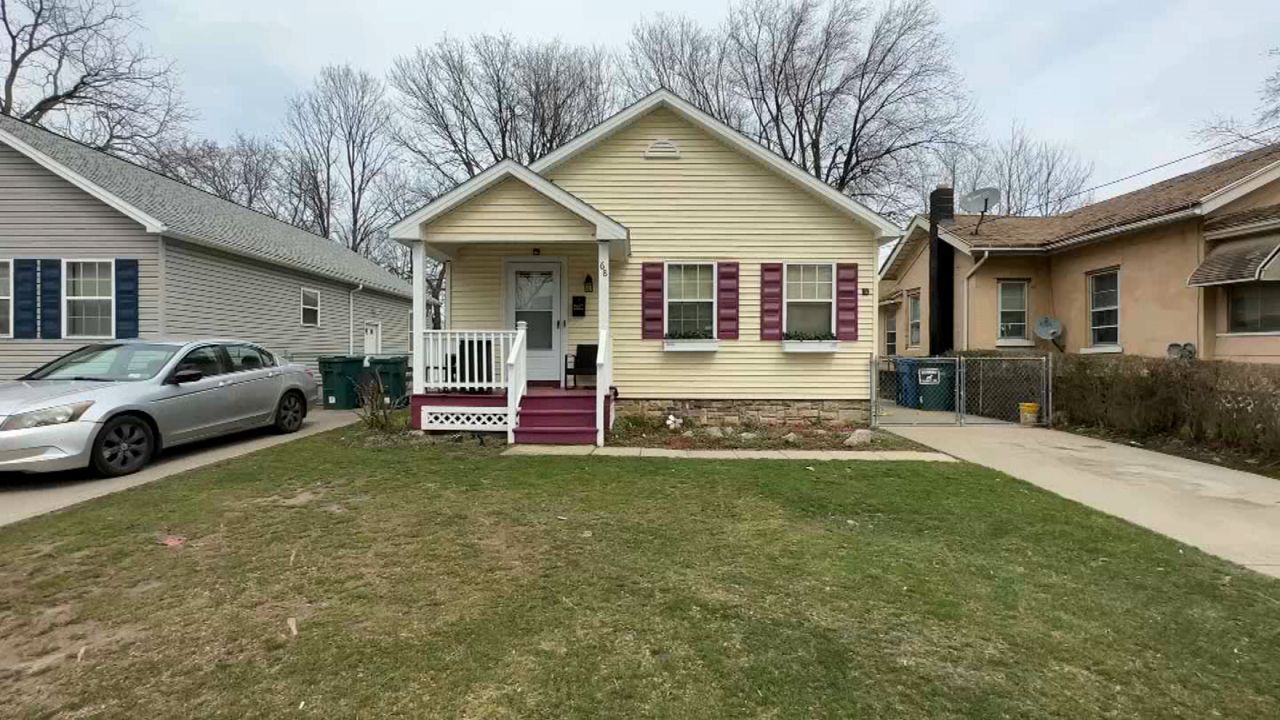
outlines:
[[[160, 243], [142, 225], [0, 143], [0, 258], [138, 261], [138, 332], [160, 331]], [[0, 338], [0, 379], [12, 379], [84, 345], [79, 340]]]

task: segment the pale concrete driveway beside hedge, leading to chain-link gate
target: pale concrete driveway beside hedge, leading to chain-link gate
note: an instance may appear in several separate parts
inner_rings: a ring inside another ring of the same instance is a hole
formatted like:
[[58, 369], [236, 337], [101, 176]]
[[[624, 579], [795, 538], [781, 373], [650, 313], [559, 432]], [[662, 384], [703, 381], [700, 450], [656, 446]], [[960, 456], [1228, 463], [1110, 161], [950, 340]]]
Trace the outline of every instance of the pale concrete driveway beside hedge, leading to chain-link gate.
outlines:
[[1039, 428], [886, 429], [1280, 578], [1280, 480]]

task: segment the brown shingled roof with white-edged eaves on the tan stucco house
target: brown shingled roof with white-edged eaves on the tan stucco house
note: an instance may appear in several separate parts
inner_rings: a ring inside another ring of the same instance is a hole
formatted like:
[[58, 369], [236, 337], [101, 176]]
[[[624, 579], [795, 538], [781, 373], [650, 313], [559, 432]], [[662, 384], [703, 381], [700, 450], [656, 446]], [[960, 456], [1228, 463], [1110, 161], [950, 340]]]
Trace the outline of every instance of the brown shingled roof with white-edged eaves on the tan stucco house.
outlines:
[[1280, 179], [1280, 143], [1047, 218], [956, 215], [952, 234], [982, 250], [1056, 250], [1143, 223], [1203, 215]]

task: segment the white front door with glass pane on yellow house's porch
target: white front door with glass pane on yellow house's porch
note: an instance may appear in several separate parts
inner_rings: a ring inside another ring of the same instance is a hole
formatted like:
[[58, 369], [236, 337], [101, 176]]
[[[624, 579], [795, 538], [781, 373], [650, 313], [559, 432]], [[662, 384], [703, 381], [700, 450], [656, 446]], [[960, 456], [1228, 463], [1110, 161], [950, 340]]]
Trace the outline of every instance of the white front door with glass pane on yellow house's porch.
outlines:
[[559, 263], [515, 263], [508, 272], [508, 323], [527, 325], [529, 379], [558, 382], [563, 363]]

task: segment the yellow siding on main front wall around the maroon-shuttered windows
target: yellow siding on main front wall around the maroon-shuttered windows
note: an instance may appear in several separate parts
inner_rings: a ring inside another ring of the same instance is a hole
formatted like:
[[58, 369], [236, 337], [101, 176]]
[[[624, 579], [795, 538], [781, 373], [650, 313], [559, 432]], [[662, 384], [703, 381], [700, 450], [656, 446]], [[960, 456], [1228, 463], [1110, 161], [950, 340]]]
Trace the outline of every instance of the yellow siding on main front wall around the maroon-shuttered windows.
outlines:
[[[655, 138], [678, 160], [645, 160]], [[859, 297], [859, 340], [835, 354], [786, 354], [760, 341], [760, 264], [859, 264], [859, 287], [876, 282], [873, 232], [776, 172], [721, 143], [669, 110], [640, 118], [550, 173], [631, 231], [631, 258], [613, 263], [611, 333], [614, 384], [630, 398], [865, 400], [876, 338], [876, 296]], [[640, 337], [644, 261], [741, 264], [741, 340], [717, 352], [664, 352]], [[461, 284], [461, 283], [458, 283]]]

